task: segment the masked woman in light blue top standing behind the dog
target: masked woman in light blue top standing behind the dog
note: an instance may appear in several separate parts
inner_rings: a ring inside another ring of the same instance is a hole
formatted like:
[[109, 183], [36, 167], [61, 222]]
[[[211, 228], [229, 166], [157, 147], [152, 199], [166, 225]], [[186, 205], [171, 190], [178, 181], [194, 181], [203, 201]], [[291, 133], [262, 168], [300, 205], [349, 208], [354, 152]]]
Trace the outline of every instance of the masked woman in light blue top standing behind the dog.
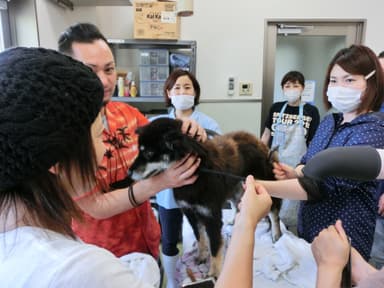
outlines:
[[[200, 85], [191, 73], [180, 69], [174, 70], [165, 81], [163, 92], [166, 106], [171, 107], [169, 113], [150, 120], [159, 117], [192, 118], [203, 128], [220, 133], [217, 122], [196, 109], [200, 100]], [[159, 205], [161, 258], [167, 276], [167, 288], [178, 287], [175, 280], [176, 262], [179, 254], [177, 242], [181, 235], [183, 216], [173, 197], [172, 189], [158, 193], [156, 201]]]

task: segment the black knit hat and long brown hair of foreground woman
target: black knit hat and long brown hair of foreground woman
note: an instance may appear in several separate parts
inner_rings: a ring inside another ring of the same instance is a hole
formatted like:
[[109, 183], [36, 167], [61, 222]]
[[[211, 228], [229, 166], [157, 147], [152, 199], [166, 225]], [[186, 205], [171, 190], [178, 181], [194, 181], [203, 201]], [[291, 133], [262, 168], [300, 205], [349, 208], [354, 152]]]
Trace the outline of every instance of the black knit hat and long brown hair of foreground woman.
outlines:
[[20, 225], [75, 238], [71, 221], [80, 212], [72, 196], [96, 184], [91, 125], [103, 94], [89, 67], [57, 51], [17, 47], [0, 53], [4, 225], [12, 216]]

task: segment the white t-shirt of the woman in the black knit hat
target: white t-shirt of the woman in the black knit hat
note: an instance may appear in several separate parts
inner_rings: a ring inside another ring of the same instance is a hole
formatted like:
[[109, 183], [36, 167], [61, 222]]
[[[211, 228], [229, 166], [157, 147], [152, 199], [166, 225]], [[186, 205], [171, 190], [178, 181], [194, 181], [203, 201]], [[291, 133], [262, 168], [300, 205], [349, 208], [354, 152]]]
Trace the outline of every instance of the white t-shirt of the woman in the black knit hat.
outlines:
[[0, 233], [0, 286], [154, 287], [109, 251], [36, 227]]

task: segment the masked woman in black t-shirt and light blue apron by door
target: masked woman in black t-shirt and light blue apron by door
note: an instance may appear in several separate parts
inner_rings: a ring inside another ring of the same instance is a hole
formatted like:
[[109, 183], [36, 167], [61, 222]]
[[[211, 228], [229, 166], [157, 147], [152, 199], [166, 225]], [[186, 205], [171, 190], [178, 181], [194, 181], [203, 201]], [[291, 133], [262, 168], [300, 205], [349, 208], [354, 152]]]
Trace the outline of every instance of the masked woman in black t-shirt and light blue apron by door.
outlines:
[[[286, 101], [272, 105], [261, 141], [279, 152], [279, 161], [290, 166], [300, 163], [307, 146], [319, 126], [319, 111], [313, 105], [302, 103], [304, 75], [290, 71], [281, 80]], [[297, 233], [299, 201], [283, 200], [280, 218], [289, 230]]]

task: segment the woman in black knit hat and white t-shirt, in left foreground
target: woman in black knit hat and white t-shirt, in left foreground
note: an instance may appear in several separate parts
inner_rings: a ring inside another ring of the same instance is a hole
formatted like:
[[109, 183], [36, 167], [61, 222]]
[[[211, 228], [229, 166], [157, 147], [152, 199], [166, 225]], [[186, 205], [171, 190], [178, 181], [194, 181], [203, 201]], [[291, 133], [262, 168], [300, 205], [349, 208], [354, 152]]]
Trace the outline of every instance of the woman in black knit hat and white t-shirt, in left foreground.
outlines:
[[68, 56], [0, 53], [1, 287], [154, 287], [71, 228], [72, 198], [95, 185], [105, 149], [102, 99], [98, 77]]

